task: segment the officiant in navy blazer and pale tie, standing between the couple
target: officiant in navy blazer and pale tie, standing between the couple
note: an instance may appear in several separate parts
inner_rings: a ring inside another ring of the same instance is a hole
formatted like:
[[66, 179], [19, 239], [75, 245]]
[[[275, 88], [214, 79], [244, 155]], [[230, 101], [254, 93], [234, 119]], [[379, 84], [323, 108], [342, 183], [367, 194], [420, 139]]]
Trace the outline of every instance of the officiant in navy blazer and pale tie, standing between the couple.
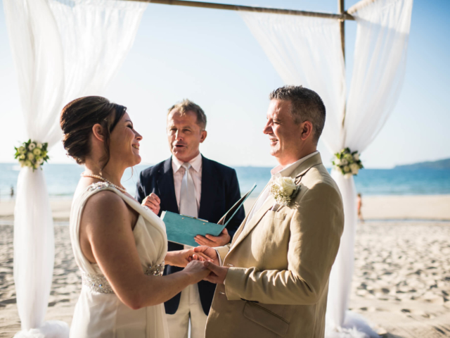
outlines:
[[[205, 112], [192, 101], [184, 100], [169, 108], [167, 138], [172, 156], [141, 172], [136, 188], [139, 203], [158, 215], [172, 211], [217, 223], [240, 199], [236, 170], [200, 154], [200, 143], [207, 137], [205, 127]], [[211, 247], [228, 244], [244, 218], [241, 207], [219, 236], [198, 235], [195, 242]], [[169, 251], [181, 249], [183, 245], [169, 242]], [[164, 274], [180, 270], [166, 265]], [[190, 318], [191, 337], [205, 337], [215, 287], [201, 281], [165, 302], [170, 338], [187, 338]]]

